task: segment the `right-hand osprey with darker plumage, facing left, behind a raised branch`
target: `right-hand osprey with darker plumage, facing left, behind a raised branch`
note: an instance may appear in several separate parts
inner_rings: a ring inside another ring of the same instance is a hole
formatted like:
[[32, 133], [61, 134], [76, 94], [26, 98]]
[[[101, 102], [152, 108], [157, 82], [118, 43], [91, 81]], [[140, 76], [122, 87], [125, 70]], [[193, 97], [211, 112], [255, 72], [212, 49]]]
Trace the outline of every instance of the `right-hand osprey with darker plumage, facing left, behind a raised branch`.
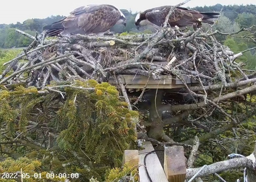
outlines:
[[[135, 25], [137, 26], [137, 29], [139, 30], [139, 27], [144, 25], [153, 25], [160, 28], [172, 7], [173, 6], [160, 6], [140, 11], [135, 18]], [[168, 23], [171, 27], [176, 25], [178, 27], [192, 26], [194, 23], [198, 23], [199, 21], [214, 24], [214, 21], [210, 19], [218, 18], [217, 15], [220, 15], [220, 13], [201, 13], [187, 8], [177, 7], [171, 14]]]

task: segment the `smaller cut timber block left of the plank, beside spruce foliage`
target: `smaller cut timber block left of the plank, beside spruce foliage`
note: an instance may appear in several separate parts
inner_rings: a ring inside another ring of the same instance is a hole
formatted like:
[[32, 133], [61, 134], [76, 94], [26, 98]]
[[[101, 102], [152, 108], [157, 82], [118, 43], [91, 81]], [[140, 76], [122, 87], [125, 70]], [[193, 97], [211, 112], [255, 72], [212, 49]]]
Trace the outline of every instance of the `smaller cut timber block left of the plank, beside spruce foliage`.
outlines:
[[131, 166], [136, 166], [139, 164], [139, 151], [138, 150], [125, 150], [123, 154], [123, 165], [127, 163]]

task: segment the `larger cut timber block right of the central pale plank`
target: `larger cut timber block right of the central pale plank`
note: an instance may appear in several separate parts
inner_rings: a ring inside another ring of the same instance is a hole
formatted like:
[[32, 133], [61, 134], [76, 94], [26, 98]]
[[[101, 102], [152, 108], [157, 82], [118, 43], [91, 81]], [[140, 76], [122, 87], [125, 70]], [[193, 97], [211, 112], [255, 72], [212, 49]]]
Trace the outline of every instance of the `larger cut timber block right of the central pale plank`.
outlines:
[[169, 182], [184, 182], [186, 163], [182, 146], [165, 147], [164, 172]]

